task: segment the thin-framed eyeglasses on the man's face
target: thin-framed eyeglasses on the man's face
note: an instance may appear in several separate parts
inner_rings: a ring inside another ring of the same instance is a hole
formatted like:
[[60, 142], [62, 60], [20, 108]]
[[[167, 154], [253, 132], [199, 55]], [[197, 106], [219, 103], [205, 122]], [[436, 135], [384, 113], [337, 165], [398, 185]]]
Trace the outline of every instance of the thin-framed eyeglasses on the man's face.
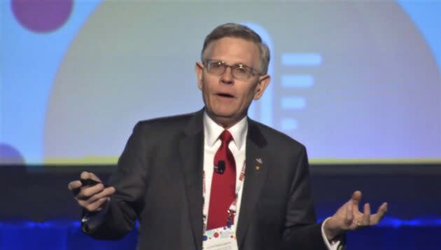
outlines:
[[247, 80], [251, 76], [260, 75], [260, 72], [246, 66], [245, 64], [228, 65], [222, 61], [206, 60], [204, 66], [211, 74], [221, 76], [225, 73], [227, 68], [231, 68], [232, 76], [237, 80]]

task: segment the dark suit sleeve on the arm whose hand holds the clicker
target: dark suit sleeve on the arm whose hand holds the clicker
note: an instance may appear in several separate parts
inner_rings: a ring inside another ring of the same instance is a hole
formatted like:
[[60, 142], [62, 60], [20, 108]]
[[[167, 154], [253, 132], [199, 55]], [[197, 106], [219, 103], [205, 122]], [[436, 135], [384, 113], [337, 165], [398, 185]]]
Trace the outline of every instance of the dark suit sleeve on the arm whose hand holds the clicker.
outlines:
[[83, 219], [85, 233], [97, 239], [119, 239], [132, 230], [144, 207], [147, 151], [146, 134], [138, 123], [109, 181], [116, 193], [102, 211]]

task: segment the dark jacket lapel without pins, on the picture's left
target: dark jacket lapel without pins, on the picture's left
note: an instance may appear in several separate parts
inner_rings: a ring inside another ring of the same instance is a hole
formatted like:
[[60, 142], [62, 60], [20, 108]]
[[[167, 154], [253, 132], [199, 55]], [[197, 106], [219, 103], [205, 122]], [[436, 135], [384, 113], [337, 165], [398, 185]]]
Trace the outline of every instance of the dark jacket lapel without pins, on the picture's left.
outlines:
[[204, 155], [202, 114], [203, 111], [199, 111], [190, 119], [179, 143], [190, 223], [195, 246], [198, 250], [202, 248], [202, 166]]

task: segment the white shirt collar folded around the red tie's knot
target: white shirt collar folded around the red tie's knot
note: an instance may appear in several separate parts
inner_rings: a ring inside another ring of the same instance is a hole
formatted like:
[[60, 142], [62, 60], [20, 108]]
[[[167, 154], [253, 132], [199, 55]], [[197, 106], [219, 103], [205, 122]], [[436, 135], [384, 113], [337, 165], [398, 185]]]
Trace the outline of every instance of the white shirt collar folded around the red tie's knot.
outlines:
[[[207, 141], [209, 146], [213, 146], [216, 143], [223, 130], [224, 128], [215, 123], [214, 120], [208, 116], [207, 112], [204, 111], [204, 134], [205, 141]], [[237, 149], [240, 149], [241, 146], [244, 145], [247, 130], [248, 119], [246, 116], [228, 129], [233, 137], [233, 141], [235, 142]]]

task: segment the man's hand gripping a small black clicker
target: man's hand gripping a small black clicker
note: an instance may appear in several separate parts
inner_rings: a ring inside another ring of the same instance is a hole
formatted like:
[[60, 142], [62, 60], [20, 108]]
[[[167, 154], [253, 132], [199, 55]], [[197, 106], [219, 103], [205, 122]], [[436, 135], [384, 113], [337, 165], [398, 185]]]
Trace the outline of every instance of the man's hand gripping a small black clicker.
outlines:
[[94, 186], [82, 186], [81, 181], [76, 180], [69, 182], [67, 187], [71, 191], [75, 190], [76, 188], [80, 188], [80, 191], [75, 196], [75, 200], [78, 202], [80, 207], [83, 207], [83, 209], [90, 212], [99, 211], [102, 209], [102, 207], [104, 207], [104, 204], [110, 200], [111, 195], [115, 193], [115, 188], [112, 186], [104, 188], [101, 180], [90, 172], [82, 172], [80, 178], [92, 179], [100, 183]]

